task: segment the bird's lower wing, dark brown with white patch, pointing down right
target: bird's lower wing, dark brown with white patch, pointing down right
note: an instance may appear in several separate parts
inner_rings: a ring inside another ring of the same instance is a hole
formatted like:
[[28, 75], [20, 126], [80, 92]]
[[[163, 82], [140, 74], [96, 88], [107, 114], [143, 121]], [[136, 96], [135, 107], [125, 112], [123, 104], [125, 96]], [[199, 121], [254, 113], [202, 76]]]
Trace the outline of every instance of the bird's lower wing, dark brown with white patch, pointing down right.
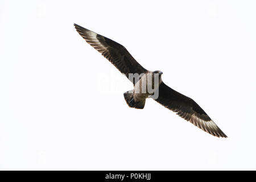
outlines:
[[209, 134], [227, 137], [195, 101], [171, 89], [164, 82], [159, 86], [159, 97], [155, 101]]

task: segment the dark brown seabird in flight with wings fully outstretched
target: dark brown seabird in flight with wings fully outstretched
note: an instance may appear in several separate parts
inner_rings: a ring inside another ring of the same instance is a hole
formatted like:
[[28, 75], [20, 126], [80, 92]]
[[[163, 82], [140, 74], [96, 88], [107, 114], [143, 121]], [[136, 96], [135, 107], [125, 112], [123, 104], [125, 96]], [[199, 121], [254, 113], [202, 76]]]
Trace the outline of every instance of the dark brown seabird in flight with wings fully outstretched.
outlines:
[[[148, 71], [121, 44], [78, 24], [74, 26], [90, 46], [133, 82], [134, 89], [123, 93], [127, 105], [143, 109], [146, 99], [151, 97], [207, 133], [216, 137], [227, 137], [195, 101], [164, 84], [161, 78], [163, 72]], [[150, 86], [153, 89], [149, 89]]]

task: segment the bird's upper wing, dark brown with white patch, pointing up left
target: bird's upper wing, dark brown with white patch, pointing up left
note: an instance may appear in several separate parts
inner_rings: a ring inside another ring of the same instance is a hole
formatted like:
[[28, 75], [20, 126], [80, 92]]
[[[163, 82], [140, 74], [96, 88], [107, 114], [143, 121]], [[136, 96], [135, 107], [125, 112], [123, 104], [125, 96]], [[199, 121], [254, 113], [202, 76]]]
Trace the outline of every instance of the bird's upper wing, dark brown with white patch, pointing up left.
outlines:
[[74, 25], [76, 31], [79, 32], [82, 38], [100, 52], [101, 55], [106, 57], [127, 78], [129, 77], [129, 73], [138, 73], [140, 75], [141, 73], [147, 72], [121, 44], [81, 27], [78, 24]]

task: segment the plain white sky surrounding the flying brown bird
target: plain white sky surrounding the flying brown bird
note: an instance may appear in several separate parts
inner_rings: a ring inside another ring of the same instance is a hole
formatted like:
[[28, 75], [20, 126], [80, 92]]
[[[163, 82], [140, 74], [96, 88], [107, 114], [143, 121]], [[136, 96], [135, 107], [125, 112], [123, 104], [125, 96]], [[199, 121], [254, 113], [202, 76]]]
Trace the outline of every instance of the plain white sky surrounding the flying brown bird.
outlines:
[[[0, 169], [256, 169], [255, 1], [0, 1]], [[229, 138], [133, 88], [73, 23], [125, 46]]]

